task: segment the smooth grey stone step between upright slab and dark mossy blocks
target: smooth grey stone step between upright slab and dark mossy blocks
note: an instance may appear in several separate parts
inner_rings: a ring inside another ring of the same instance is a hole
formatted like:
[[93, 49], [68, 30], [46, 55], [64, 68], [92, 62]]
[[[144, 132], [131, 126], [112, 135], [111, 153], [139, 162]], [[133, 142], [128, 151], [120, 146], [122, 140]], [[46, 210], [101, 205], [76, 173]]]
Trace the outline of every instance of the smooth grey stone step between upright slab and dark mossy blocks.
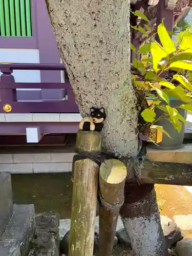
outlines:
[[[20, 243], [20, 255], [26, 256], [35, 231], [34, 205], [13, 205], [13, 215], [1, 240], [15, 239]], [[0, 254], [1, 255], [1, 254]], [[2, 256], [2, 255], [1, 255]]]

